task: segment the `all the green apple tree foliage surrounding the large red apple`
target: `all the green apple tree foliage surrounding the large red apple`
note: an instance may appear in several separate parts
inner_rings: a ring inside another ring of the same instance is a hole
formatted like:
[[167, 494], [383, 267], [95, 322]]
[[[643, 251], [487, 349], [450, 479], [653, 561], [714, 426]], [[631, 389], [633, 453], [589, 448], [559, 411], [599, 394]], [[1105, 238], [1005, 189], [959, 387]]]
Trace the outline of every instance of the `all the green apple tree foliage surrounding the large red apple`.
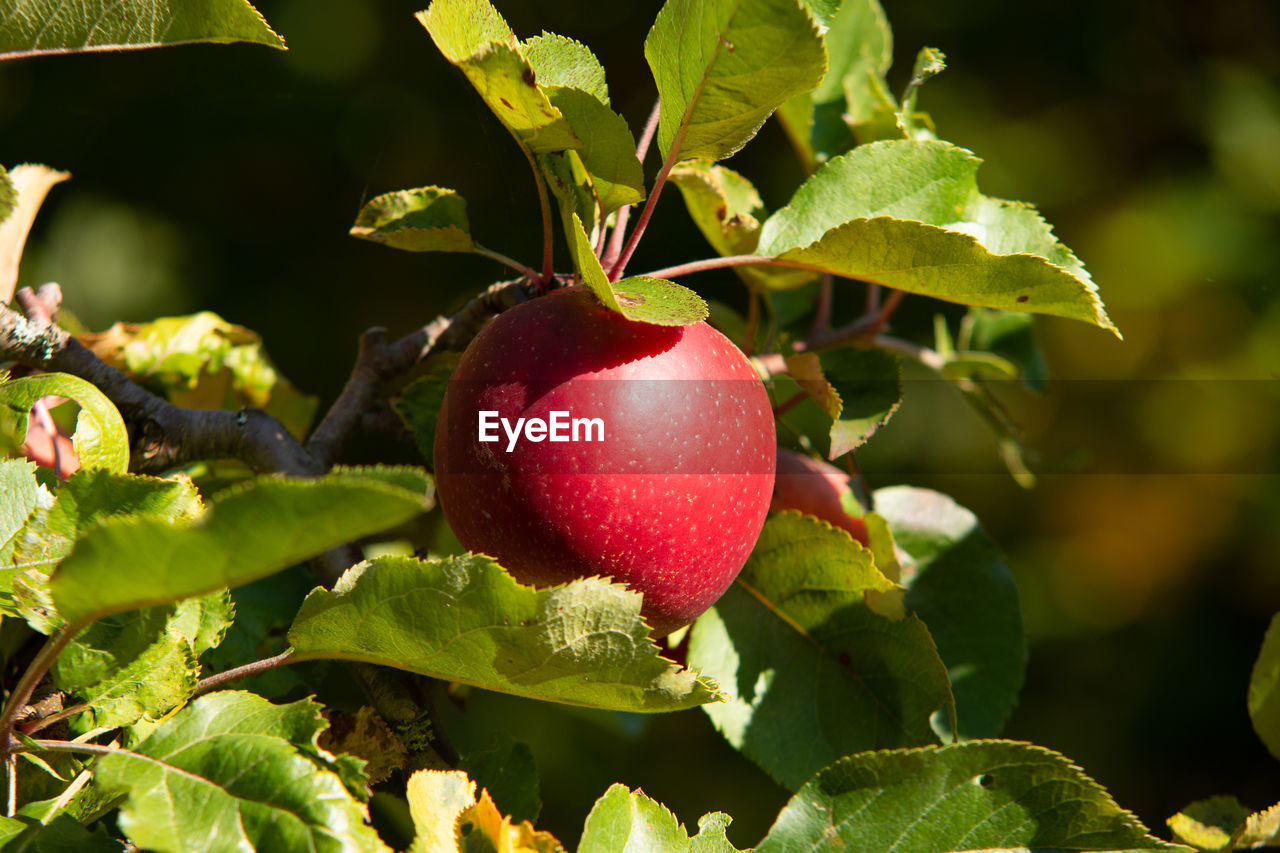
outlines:
[[[6, 59], [191, 41], [283, 47], [246, 0], [3, 8]], [[941, 53], [922, 50], [905, 91], [891, 92], [877, 0], [667, 0], [644, 42], [658, 96], [646, 128], [614, 109], [585, 45], [522, 40], [489, 0], [434, 0], [417, 24], [531, 165], [544, 257], [526, 265], [490, 248], [500, 234], [474, 236], [466, 201], [440, 186], [372, 199], [351, 233], [475, 252], [539, 288], [582, 283], [636, 321], [709, 316], [755, 356], [792, 448], [850, 460], [891, 421], [900, 362], [915, 359], [986, 415], [1010, 471], [1028, 482], [984, 380], [1043, 382], [1030, 314], [1119, 334], [1036, 209], [983, 195], [978, 156], [916, 108]], [[808, 174], [773, 211], [723, 165], [771, 118]], [[31, 188], [41, 179], [29, 169], [0, 174], [6, 269], [47, 188]], [[668, 183], [712, 255], [628, 275]], [[557, 265], [557, 245], [567, 263]], [[694, 274], [717, 268], [741, 277], [748, 316], [695, 292]], [[0, 282], [6, 297], [12, 278]], [[833, 329], [831, 292], [845, 287], [867, 292], [868, 313]], [[896, 339], [887, 320], [905, 293], [969, 313], [957, 333], [940, 321], [933, 346]], [[178, 406], [253, 406], [300, 439], [311, 430], [315, 401], [276, 373], [255, 333], [216, 315], [118, 324], [81, 346]], [[393, 401], [428, 467], [454, 362], [429, 359]], [[33, 419], [59, 400], [78, 411], [61, 424], [79, 466], [64, 478], [22, 452]], [[539, 784], [556, 780], [538, 780], [524, 744], [451, 756], [429, 702], [397, 712], [406, 704], [393, 697], [343, 717], [311, 698], [280, 699], [310, 693], [325, 661], [366, 686], [398, 670], [419, 685], [707, 713], [794, 793], [755, 840], [760, 853], [1217, 850], [1280, 833], [1280, 807], [1249, 813], [1217, 797], [1170, 818], [1176, 843], [1165, 841], [1066, 757], [1001, 740], [1027, 666], [1018, 590], [974, 515], [936, 492], [850, 497], [869, 547], [776, 514], [728, 593], [659, 646], [639, 596], [608, 579], [534, 589], [481, 555], [371, 553], [320, 585], [297, 569], [429, 510], [425, 469], [284, 478], [209, 459], [131, 473], [140, 443], [111, 398], [58, 371], [4, 378], [0, 441], [3, 850], [120, 850], [124, 839], [174, 853], [568, 849], [573, 839], [534, 825]], [[288, 666], [302, 663], [312, 669]], [[1280, 756], [1277, 697], [1272, 626], [1248, 710]], [[344, 734], [330, 729], [339, 717]], [[407, 835], [371, 821], [374, 792], [399, 804]], [[590, 806], [576, 849], [739, 849], [728, 815], [691, 817], [617, 784]]]

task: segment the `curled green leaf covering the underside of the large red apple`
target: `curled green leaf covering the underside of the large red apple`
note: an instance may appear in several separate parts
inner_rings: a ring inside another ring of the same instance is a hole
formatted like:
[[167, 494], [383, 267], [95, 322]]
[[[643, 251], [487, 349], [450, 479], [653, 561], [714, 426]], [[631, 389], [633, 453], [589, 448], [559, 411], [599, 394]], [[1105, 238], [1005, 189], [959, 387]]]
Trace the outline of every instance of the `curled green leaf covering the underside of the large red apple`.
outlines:
[[658, 656], [636, 593], [600, 578], [534, 589], [479, 555], [361, 564], [307, 597], [289, 642], [298, 661], [366, 661], [593, 708], [675, 711], [718, 697]]

